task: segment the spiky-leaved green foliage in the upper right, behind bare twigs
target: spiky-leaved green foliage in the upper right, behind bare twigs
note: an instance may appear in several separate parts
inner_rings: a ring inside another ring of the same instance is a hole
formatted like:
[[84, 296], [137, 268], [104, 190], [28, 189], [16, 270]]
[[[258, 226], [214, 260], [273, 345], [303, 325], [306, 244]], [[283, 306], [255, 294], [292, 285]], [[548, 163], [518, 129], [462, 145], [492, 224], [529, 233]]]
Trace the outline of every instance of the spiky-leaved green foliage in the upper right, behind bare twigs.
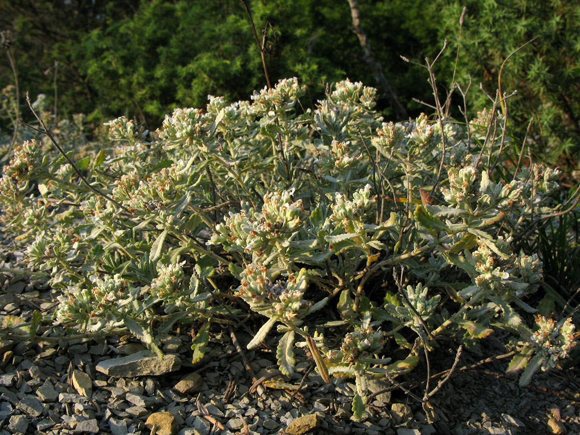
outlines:
[[[531, 139], [538, 158], [578, 166], [580, 135], [580, 3], [574, 1], [470, 0], [447, 3], [441, 9], [441, 34], [447, 35], [446, 56], [455, 58], [458, 19], [467, 7], [461, 38], [457, 81], [473, 90], [474, 109], [491, 106], [477, 88], [480, 82], [495, 96], [501, 73], [502, 91], [517, 95], [509, 100], [514, 134], [523, 137], [533, 117]], [[567, 160], [567, 161], [566, 161]]]

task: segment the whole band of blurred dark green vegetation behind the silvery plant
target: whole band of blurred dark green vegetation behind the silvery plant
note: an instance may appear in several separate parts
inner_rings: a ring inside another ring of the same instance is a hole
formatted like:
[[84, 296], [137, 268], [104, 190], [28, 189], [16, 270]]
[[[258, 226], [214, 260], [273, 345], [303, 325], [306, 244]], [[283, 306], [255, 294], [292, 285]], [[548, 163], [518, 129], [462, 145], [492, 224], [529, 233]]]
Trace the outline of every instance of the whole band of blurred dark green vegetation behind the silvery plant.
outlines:
[[[459, 17], [466, 15], [459, 38]], [[347, 0], [250, 0], [258, 32], [270, 23], [267, 65], [273, 82], [298, 77], [309, 86], [305, 108], [324, 96], [325, 84], [344, 78], [378, 86], [353, 32]], [[454, 77], [471, 82], [467, 108], [492, 103], [501, 73], [511, 93], [513, 137], [528, 138], [536, 158], [575, 169], [580, 146], [580, 4], [557, 0], [360, 0], [361, 26], [374, 57], [411, 117], [432, 102], [426, 70], [401, 55], [434, 59], [441, 91]], [[266, 85], [258, 48], [240, 0], [20, 0], [0, 2], [0, 30], [10, 30], [0, 63], [0, 129], [9, 135], [14, 73], [20, 111], [24, 94], [46, 95], [59, 119], [84, 113], [94, 126], [127, 115], [148, 128], [175, 107], [205, 107], [206, 96], [249, 99]], [[458, 50], [459, 44], [459, 50]], [[55, 99], [57, 104], [52, 101]], [[397, 120], [380, 94], [379, 110]], [[462, 106], [455, 93], [452, 107]], [[13, 119], [13, 118], [12, 118]]]

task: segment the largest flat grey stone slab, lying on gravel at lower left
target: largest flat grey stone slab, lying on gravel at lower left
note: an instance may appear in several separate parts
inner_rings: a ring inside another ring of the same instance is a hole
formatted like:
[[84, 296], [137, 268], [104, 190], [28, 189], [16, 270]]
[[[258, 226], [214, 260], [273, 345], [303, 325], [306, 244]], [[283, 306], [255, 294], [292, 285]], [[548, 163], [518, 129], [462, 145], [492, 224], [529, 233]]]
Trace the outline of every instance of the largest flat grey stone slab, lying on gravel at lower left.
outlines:
[[135, 376], [159, 376], [178, 370], [181, 360], [166, 354], [163, 359], [149, 350], [142, 350], [126, 357], [111, 358], [97, 364], [96, 369], [108, 376], [133, 378]]

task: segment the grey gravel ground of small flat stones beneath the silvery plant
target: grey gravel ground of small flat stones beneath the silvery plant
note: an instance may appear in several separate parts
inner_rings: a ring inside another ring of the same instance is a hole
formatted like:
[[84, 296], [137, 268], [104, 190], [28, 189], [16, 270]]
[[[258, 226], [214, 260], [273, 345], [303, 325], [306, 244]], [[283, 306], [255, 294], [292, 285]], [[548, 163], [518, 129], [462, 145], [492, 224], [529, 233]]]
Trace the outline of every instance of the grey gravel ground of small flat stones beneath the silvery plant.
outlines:
[[[19, 252], [4, 258], [0, 267], [24, 267]], [[55, 309], [50, 289], [10, 274], [0, 278], [0, 318], [26, 320], [34, 309]], [[215, 332], [197, 364], [190, 362], [189, 331], [161, 338], [169, 356], [164, 361], [143, 351], [131, 336], [2, 339], [0, 435], [580, 433], [578, 369], [540, 374], [524, 389], [503, 375], [503, 361], [458, 370], [431, 400], [433, 424], [420, 404], [376, 382], [367, 419], [358, 423], [351, 419], [354, 384], [349, 379], [325, 384], [300, 356], [292, 378], [277, 378], [273, 342], [240, 351], [238, 346], [245, 349], [251, 338], [247, 333]], [[460, 366], [484, 355], [466, 351]], [[450, 367], [451, 360], [441, 367]], [[412, 376], [420, 378], [415, 371]], [[255, 382], [264, 378], [269, 379]]]

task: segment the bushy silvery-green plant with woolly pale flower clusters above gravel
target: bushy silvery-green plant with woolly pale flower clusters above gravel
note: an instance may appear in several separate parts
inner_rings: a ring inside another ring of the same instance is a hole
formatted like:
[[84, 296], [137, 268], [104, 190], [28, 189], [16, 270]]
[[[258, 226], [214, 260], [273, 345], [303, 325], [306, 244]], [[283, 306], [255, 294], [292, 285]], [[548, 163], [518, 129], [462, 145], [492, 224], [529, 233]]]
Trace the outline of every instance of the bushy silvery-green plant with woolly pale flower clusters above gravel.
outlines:
[[198, 361], [211, 323], [250, 312], [262, 327], [248, 346], [276, 336], [283, 374], [307, 347], [322, 379], [356, 379], [357, 419], [368, 379], [411, 371], [443, 334], [473, 345], [503, 328], [523, 343], [510, 368], [529, 363], [524, 380], [556, 367], [577, 335], [565, 318], [525, 326], [542, 263], [514, 240], [559, 206], [559, 172], [493, 171], [488, 112], [394, 124], [360, 83], [314, 110], [304, 92], [286, 79], [249, 102], [210, 96], [151, 142], [110, 121], [109, 147], [77, 160], [90, 188], [39, 142], [16, 147], [1, 219], [61, 292], [55, 327], [126, 328], [160, 353], [158, 334], [193, 323]]

